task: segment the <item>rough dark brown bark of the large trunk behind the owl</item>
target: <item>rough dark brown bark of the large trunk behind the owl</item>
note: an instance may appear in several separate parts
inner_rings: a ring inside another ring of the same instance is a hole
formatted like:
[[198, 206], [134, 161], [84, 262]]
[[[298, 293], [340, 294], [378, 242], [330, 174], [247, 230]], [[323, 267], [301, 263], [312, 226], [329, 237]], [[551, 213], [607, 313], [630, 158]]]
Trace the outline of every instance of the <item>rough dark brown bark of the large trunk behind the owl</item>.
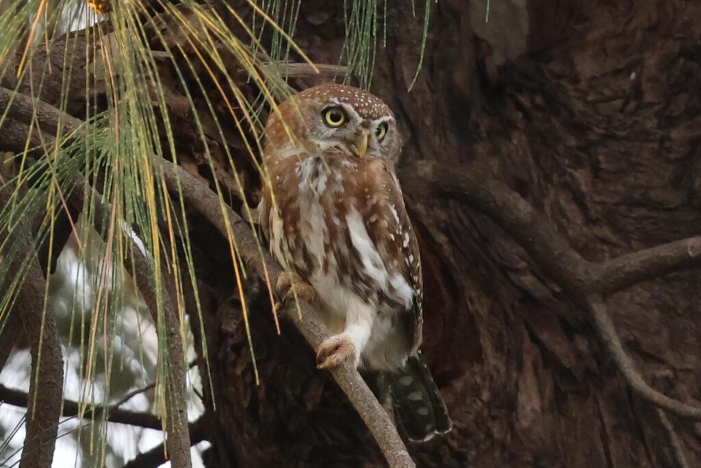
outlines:
[[[342, 4], [301, 2], [295, 38], [314, 62], [338, 60]], [[481, 0], [430, 2], [423, 68], [407, 92], [423, 34], [425, 6], [414, 4], [415, 12], [408, 2], [388, 3], [372, 81], [404, 134], [400, 174], [434, 161], [489, 175], [545, 213], [592, 262], [701, 232], [701, 5], [491, 0], [485, 21]], [[379, 11], [385, 15], [382, 5]], [[194, 96], [215, 158], [212, 173], [175, 73], [167, 65], [162, 72], [179, 161], [205, 180], [219, 179], [238, 209], [222, 150], [229, 145], [254, 203], [257, 174], [233, 123], [224, 128], [226, 142], [218, 140], [204, 100]], [[319, 81], [302, 77], [292, 85]], [[86, 94], [74, 95], [67, 111], [83, 117]], [[227, 119], [224, 106], [217, 112]], [[422, 251], [423, 350], [454, 420], [446, 438], [409, 445], [418, 466], [674, 467], [677, 448], [689, 466], [701, 463], [700, 426], [660, 417], [629, 390], [592, 316], [557, 277], [485, 215], [414, 196], [410, 183], [403, 189]], [[268, 292], [251, 276], [245, 293], [256, 385], [228, 243], [197, 213], [189, 222], [200, 302], [190, 297], [188, 309], [198, 351], [206, 337], [209, 363], [200, 352], [212, 442], [207, 466], [383, 466], [360, 417], [315, 369], [297, 330], [283, 319], [278, 335]], [[607, 299], [646, 381], [695, 406], [700, 286], [701, 272], [690, 269]]]

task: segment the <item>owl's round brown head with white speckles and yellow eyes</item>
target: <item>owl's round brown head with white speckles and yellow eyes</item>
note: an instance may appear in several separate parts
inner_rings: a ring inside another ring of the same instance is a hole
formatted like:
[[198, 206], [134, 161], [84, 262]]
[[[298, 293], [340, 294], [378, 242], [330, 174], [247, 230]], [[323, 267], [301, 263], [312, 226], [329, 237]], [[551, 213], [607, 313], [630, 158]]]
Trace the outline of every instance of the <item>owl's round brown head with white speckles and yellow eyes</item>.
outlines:
[[[353, 86], [324, 84], [308, 88], [280, 105], [266, 126], [268, 145], [278, 151], [290, 145], [336, 149], [348, 156], [376, 156], [396, 162], [401, 138], [390, 108], [375, 95]], [[310, 145], [311, 143], [311, 145]], [[311, 149], [311, 148], [310, 148]], [[266, 151], [266, 153], [269, 153]]]

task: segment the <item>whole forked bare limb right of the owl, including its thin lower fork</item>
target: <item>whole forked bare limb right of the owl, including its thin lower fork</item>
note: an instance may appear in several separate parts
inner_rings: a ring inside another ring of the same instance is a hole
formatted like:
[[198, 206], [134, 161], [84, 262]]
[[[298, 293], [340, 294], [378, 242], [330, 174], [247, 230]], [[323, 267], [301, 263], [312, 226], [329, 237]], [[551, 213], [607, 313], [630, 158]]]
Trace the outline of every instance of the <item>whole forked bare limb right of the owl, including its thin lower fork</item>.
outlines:
[[580, 307], [590, 312], [606, 350], [634, 392], [670, 413], [701, 420], [701, 408], [671, 399], [645, 382], [625, 353], [602, 299], [604, 294], [615, 293], [639, 281], [701, 266], [701, 237], [596, 264], [584, 260], [545, 215], [501, 182], [473, 175], [466, 169], [443, 168], [436, 163], [406, 168], [400, 178], [402, 185], [411, 187], [415, 196], [463, 201], [492, 218]]

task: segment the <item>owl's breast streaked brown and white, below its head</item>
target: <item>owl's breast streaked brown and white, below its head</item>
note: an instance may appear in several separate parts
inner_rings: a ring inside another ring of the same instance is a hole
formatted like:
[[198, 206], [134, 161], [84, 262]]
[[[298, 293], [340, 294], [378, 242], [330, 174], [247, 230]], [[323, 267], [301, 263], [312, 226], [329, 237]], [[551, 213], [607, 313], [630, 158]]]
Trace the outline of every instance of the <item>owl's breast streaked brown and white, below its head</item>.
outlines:
[[308, 157], [279, 174], [271, 249], [315, 287], [330, 312], [345, 314], [354, 298], [378, 312], [410, 309], [416, 292], [364, 219], [364, 206], [381, 194], [353, 178], [357, 171], [348, 159]]

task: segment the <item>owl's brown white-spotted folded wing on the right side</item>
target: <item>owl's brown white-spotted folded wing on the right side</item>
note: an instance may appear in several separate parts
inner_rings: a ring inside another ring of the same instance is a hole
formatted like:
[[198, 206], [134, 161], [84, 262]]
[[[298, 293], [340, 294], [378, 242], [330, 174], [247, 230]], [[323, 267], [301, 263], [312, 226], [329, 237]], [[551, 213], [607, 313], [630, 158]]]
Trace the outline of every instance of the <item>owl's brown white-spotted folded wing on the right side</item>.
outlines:
[[365, 222], [365, 229], [389, 274], [400, 275], [414, 290], [411, 306], [398, 312], [410, 312], [413, 321], [409, 331], [412, 354], [421, 344], [423, 325], [423, 280], [421, 278], [421, 255], [411, 226], [407, 208], [404, 206], [402, 189], [388, 163], [381, 159], [365, 161], [360, 166], [362, 178], [355, 185], [354, 198]]

